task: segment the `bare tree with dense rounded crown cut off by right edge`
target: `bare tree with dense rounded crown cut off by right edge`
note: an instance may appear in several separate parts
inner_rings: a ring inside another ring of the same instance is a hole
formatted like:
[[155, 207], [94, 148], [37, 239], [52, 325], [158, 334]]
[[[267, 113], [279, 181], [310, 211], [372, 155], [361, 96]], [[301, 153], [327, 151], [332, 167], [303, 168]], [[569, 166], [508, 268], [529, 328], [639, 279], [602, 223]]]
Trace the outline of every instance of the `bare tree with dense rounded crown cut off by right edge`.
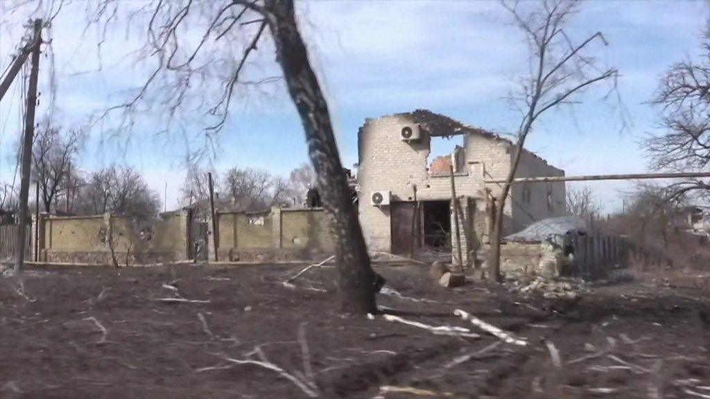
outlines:
[[[703, 40], [701, 58], [672, 65], [652, 100], [660, 108], [662, 132], [643, 146], [658, 170], [710, 171], [710, 27]], [[710, 185], [700, 179], [675, 182], [665, 194], [674, 202], [691, 196], [710, 204]]]

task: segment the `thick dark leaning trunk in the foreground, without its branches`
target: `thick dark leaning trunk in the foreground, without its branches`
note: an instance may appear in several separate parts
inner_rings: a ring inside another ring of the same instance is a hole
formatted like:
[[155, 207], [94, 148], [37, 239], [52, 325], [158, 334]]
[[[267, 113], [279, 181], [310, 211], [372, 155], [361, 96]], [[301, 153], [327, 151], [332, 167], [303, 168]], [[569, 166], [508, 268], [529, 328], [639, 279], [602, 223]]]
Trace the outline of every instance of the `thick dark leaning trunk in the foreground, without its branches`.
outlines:
[[328, 106], [296, 25], [293, 0], [267, 0], [266, 11], [276, 56], [305, 129], [308, 155], [317, 175], [324, 208], [332, 217], [341, 310], [373, 313], [376, 311], [376, 275], [370, 266], [365, 239], [350, 198]]

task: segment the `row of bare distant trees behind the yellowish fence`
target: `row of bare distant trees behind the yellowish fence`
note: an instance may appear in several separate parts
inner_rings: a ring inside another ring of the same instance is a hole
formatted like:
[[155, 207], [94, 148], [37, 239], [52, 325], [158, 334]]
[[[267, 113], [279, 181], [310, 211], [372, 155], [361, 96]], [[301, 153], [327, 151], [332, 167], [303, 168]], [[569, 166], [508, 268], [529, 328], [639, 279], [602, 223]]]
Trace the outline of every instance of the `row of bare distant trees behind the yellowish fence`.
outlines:
[[[62, 129], [49, 119], [40, 122], [33, 144], [31, 180], [38, 183], [40, 212], [53, 214], [126, 214], [141, 219], [160, 212], [160, 195], [148, 187], [139, 170], [131, 166], [108, 166], [84, 171], [77, 162], [86, 134], [82, 129]], [[209, 204], [207, 173], [189, 168], [180, 187], [181, 206], [197, 202]], [[315, 173], [304, 163], [287, 178], [267, 170], [234, 166], [224, 173], [212, 170], [214, 192], [222, 208], [255, 211], [273, 205], [300, 205]], [[18, 187], [12, 182], [0, 185], [0, 211], [12, 212], [17, 204]], [[35, 209], [35, 196], [32, 196]], [[0, 212], [0, 213], [4, 213]]]

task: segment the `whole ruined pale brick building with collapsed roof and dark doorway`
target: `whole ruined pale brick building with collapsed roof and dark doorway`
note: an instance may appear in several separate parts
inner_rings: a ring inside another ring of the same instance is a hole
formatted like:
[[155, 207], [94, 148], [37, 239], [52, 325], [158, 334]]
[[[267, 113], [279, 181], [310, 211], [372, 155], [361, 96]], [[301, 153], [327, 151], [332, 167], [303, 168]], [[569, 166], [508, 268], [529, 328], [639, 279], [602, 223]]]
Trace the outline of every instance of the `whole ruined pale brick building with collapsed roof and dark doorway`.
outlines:
[[[455, 146], [449, 159], [431, 156], [433, 140], [456, 136], [462, 136], [463, 145]], [[453, 170], [461, 252], [464, 263], [471, 263], [471, 253], [488, 241], [486, 215], [491, 198], [501, 192], [501, 185], [486, 180], [507, 177], [512, 143], [427, 110], [366, 119], [358, 143], [359, 215], [369, 250], [457, 249], [452, 234]], [[525, 151], [515, 177], [542, 176], [564, 176], [564, 171]], [[513, 185], [505, 207], [504, 234], [563, 216], [564, 182]]]

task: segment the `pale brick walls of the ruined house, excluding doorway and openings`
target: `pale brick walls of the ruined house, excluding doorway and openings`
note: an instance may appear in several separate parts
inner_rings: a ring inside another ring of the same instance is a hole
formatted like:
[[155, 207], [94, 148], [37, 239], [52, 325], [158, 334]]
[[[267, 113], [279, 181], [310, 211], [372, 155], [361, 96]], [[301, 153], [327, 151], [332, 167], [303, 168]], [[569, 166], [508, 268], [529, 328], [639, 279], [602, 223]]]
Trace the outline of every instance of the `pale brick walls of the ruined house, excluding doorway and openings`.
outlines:
[[[419, 141], [403, 141], [400, 131], [405, 125], [418, 125], [422, 130]], [[431, 136], [465, 134], [464, 149], [466, 168], [455, 174], [457, 197], [461, 198], [461, 211], [464, 218], [461, 223], [462, 252], [466, 261], [469, 246], [476, 246], [484, 240], [486, 202], [484, 189], [487, 187], [493, 195], [499, 195], [499, 185], [484, 185], [486, 179], [505, 178], [510, 170], [510, 143], [481, 129], [464, 126], [446, 116], [430, 111], [414, 111], [407, 114], [383, 116], [367, 119], [360, 128], [359, 143], [359, 212], [360, 222], [366, 243], [370, 251], [391, 251], [390, 207], [375, 207], [370, 198], [373, 192], [390, 191], [393, 202], [413, 201], [414, 186], [417, 187], [417, 200], [451, 200], [451, 180], [449, 175], [430, 175], [427, 159], [430, 155]], [[536, 155], [524, 153], [520, 162], [519, 176], [564, 175], [562, 170], [547, 165]], [[552, 186], [554, 207], [547, 207], [547, 188], [545, 183], [538, 183], [530, 202], [522, 209], [515, 204], [523, 204], [522, 190], [513, 186], [511, 195], [513, 204], [506, 202], [506, 214], [512, 222], [505, 222], [506, 231], [511, 227], [518, 229], [530, 223], [528, 213], [533, 217], [545, 218], [564, 214], [564, 182]], [[470, 208], [470, 209], [469, 209]], [[526, 212], [527, 211], [527, 212]], [[562, 213], [560, 213], [562, 212]], [[466, 216], [469, 219], [466, 219]], [[470, 219], [472, 218], [472, 220]], [[452, 224], [452, 240], [455, 227]], [[464, 235], [465, 238], [464, 239]], [[456, 253], [456, 245], [452, 246]]]

